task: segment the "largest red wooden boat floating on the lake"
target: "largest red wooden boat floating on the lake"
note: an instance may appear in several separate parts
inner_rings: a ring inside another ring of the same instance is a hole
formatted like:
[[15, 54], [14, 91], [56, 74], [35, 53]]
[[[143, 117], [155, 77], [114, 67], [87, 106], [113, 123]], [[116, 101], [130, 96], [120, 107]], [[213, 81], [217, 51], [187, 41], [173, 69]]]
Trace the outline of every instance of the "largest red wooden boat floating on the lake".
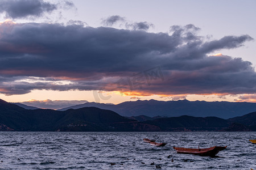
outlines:
[[193, 154], [200, 156], [215, 156], [219, 151], [225, 150], [227, 146], [213, 146], [209, 148], [184, 148], [174, 147], [178, 154]]

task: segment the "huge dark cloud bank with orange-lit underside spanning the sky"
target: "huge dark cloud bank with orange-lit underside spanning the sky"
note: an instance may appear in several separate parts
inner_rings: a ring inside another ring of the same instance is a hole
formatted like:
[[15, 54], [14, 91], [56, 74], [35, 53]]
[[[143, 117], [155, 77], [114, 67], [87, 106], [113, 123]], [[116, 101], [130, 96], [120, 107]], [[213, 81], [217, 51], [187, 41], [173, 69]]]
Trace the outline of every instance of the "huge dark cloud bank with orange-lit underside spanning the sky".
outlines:
[[[192, 24], [173, 26], [168, 34], [81, 24], [5, 22], [0, 25], [0, 92], [256, 92], [256, 74], [250, 62], [209, 56], [220, 49], [238, 48], [252, 38], [225, 36], [205, 42], [197, 36], [199, 29]], [[154, 77], [156, 73], [159, 75]], [[69, 83], [61, 84], [62, 80]]]

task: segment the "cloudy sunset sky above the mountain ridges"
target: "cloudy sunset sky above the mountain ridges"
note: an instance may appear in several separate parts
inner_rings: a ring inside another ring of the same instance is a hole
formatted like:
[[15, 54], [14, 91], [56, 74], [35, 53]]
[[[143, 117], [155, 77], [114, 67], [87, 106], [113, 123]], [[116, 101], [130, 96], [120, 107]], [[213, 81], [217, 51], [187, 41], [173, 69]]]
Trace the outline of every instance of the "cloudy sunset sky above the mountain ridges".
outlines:
[[255, 5], [1, 0], [0, 99], [256, 102]]

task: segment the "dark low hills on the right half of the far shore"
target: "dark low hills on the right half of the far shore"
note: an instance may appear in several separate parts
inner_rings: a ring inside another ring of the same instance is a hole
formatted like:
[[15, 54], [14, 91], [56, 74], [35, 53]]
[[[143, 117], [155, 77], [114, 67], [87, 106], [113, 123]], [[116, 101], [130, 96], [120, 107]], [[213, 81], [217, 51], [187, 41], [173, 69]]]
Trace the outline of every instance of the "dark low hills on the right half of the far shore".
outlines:
[[168, 118], [138, 116], [131, 118], [137, 118], [144, 124], [158, 126], [162, 131], [256, 131], [256, 112], [228, 120], [218, 117], [192, 116]]

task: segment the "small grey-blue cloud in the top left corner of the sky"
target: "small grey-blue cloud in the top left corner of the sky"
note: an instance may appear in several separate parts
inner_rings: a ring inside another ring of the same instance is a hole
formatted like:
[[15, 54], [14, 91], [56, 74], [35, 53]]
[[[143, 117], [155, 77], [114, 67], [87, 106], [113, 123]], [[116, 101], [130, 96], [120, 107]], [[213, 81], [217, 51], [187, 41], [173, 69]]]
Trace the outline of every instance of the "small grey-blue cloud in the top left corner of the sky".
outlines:
[[6, 18], [38, 17], [44, 13], [51, 13], [59, 7], [74, 7], [72, 2], [63, 1], [59, 4], [44, 2], [43, 0], [2, 0], [0, 12], [5, 12]]

